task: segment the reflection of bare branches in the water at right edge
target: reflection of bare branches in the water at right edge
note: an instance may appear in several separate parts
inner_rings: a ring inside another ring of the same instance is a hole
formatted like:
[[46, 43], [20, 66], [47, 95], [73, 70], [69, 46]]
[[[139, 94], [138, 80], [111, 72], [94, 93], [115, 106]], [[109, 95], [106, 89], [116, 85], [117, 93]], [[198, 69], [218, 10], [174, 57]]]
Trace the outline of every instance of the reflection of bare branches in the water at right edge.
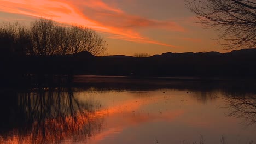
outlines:
[[230, 110], [228, 116], [243, 118], [247, 125], [256, 122], [256, 95], [227, 95], [223, 98]]

